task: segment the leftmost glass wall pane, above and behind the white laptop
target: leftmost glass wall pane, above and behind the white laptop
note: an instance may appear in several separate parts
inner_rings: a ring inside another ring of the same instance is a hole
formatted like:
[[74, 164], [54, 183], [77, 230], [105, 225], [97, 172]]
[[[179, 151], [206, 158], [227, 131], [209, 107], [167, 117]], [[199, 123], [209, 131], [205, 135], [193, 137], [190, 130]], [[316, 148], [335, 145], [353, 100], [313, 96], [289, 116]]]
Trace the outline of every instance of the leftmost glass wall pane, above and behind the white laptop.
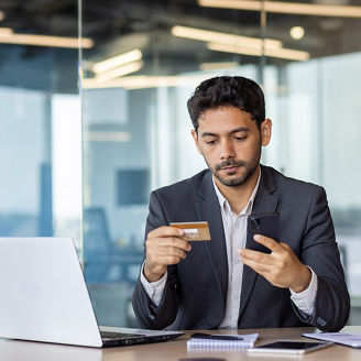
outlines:
[[0, 234], [80, 247], [77, 4], [0, 1]]

